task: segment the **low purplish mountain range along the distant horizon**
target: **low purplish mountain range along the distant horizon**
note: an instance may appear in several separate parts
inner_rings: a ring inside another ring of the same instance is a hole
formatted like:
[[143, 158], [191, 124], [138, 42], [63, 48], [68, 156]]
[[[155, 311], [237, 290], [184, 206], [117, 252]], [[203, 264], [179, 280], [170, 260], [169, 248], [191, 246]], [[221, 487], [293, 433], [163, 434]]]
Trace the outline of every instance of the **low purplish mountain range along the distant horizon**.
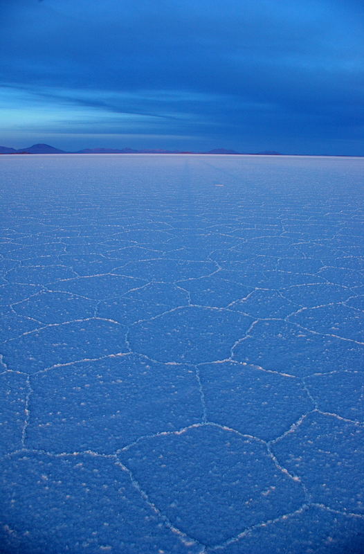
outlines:
[[184, 150], [134, 150], [133, 148], [84, 148], [78, 152], [66, 152], [59, 148], [54, 148], [49, 144], [33, 144], [27, 148], [8, 148], [8, 146], [0, 146], [0, 154], [266, 154], [280, 155], [280, 152], [266, 150], [264, 152], [236, 152], [235, 150], [226, 150], [226, 148], [215, 148], [208, 152], [192, 152]]

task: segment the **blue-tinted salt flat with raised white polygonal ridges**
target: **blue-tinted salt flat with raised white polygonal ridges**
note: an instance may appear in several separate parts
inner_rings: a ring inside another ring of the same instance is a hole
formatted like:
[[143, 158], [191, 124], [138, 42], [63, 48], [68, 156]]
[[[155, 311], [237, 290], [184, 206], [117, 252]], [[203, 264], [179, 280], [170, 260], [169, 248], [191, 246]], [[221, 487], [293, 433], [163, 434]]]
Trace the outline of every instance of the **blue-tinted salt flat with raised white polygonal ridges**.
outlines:
[[0, 163], [1, 553], [363, 553], [364, 159]]

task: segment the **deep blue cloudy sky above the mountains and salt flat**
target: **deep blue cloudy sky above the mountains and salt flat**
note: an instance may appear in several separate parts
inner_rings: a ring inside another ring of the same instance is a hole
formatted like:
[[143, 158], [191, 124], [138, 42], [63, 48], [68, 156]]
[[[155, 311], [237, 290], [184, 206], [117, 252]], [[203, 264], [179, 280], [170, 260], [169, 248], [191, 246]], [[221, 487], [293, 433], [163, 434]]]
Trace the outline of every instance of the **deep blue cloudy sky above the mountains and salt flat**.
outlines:
[[362, 0], [0, 4], [0, 145], [364, 155]]

